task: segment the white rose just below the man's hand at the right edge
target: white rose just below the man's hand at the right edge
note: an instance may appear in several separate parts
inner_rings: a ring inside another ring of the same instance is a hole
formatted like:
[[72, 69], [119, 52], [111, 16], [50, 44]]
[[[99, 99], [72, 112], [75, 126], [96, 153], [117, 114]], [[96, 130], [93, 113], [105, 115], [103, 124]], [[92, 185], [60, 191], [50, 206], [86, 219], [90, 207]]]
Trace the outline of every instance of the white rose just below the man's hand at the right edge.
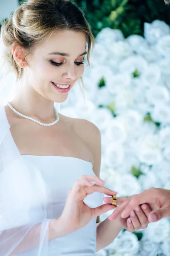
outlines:
[[144, 232], [147, 233], [150, 241], [156, 243], [163, 242], [170, 236], [170, 222], [163, 218], [160, 221], [150, 223]]

